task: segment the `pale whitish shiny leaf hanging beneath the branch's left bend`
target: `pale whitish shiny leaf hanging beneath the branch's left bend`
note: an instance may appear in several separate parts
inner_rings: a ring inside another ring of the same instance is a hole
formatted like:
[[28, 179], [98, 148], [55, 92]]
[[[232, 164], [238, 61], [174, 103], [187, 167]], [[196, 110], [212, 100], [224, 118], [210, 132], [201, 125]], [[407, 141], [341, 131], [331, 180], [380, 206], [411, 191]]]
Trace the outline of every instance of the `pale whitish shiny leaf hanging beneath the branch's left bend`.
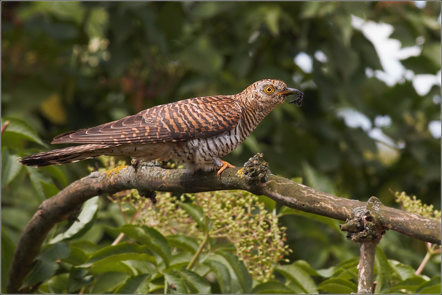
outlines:
[[67, 229], [66, 232], [58, 234], [49, 244], [55, 244], [59, 241], [71, 240], [81, 237], [85, 232], [87, 232], [95, 222], [95, 215], [98, 211], [99, 197], [90, 198], [83, 205], [83, 209], [78, 215], [78, 222], [74, 223]]

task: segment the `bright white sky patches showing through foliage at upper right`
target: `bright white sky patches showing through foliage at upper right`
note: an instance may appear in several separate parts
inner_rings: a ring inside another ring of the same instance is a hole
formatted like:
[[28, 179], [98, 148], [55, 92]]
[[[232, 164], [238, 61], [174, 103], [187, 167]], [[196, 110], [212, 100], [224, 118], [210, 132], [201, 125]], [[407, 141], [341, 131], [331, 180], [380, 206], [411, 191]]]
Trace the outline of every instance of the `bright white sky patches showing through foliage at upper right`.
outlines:
[[[425, 7], [425, 4], [426, 1], [415, 1], [415, 5], [419, 8]], [[439, 16], [438, 21], [441, 23], [441, 16]], [[401, 43], [398, 40], [389, 38], [394, 30], [392, 25], [387, 23], [376, 23], [374, 21], [365, 21], [355, 16], [352, 16], [352, 24], [355, 29], [361, 30], [365, 37], [373, 43], [383, 67], [383, 71], [367, 69], [367, 76], [375, 76], [389, 86], [400, 83], [403, 79], [410, 80], [413, 82], [416, 92], [421, 96], [426, 95], [433, 85], [441, 85], [441, 71], [439, 71], [437, 75], [415, 75], [413, 71], [407, 70], [400, 63], [400, 60], [404, 60], [410, 56], [419, 56], [421, 49], [417, 45], [402, 48]], [[327, 57], [321, 51], [315, 52], [314, 58], [323, 63], [327, 61]], [[313, 69], [313, 61], [305, 52], [299, 53], [294, 58], [294, 62], [304, 72], [311, 73]], [[441, 96], [435, 96], [433, 102], [435, 104], [440, 104]], [[361, 127], [378, 142], [394, 148], [403, 148], [400, 143], [394, 143], [382, 132], [382, 127], [391, 124], [391, 118], [388, 115], [382, 116], [379, 114], [376, 116], [373, 122], [374, 126], [372, 126], [373, 124], [367, 116], [355, 109], [342, 108], [336, 111], [336, 115], [342, 117], [347, 126], [354, 128]], [[441, 120], [431, 121], [428, 124], [428, 129], [433, 137], [441, 138], [441, 125]]]

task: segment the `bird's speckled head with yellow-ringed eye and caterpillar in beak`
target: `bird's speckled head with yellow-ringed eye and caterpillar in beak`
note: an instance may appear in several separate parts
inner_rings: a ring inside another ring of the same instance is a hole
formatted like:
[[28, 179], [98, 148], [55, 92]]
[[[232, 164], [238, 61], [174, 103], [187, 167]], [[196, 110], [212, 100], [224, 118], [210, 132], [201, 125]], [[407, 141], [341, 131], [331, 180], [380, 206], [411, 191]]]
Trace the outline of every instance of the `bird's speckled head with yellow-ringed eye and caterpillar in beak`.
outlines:
[[287, 87], [281, 80], [265, 79], [255, 82], [244, 89], [242, 96], [265, 107], [276, 107], [282, 104], [289, 95], [296, 94], [290, 103], [301, 105], [304, 93], [295, 88]]

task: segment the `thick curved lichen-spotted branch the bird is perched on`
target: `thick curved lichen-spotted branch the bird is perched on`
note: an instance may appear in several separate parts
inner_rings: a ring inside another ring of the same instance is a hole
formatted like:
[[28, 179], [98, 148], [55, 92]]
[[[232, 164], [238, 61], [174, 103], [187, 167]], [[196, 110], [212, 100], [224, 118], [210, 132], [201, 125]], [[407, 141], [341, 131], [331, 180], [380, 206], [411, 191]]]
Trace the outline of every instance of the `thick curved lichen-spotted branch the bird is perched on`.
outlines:
[[[355, 208], [365, 204], [313, 190], [282, 177], [265, 175], [260, 171], [255, 174], [256, 178], [261, 177], [261, 180], [254, 181], [255, 170], [253, 167], [248, 168], [247, 164], [245, 169], [224, 170], [221, 179], [217, 178], [216, 172], [197, 171], [191, 174], [185, 170], [142, 166], [136, 172], [132, 167], [115, 168], [103, 173], [94, 172], [73, 182], [56, 196], [45, 200], [26, 226], [14, 253], [7, 292], [19, 292], [22, 281], [31, 270], [34, 258], [39, 253], [49, 230], [86, 200], [104, 193], [113, 194], [129, 189], [182, 193], [247, 190], [257, 195], [265, 195], [293, 209], [339, 220], [346, 220]], [[441, 244], [440, 222], [383, 205], [380, 205], [378, 210], [379, 220], [384, 228], [423, 241]]]

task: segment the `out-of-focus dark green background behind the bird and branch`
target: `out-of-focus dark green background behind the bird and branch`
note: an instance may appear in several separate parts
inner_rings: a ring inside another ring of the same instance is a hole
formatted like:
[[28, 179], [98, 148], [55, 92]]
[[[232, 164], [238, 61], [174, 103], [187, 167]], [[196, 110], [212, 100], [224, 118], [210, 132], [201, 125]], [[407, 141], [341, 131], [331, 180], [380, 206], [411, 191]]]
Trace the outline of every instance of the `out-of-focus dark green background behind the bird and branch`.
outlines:
[[[2, 1], [1, 124], [11, 122], [1, 137], [2, 243], [4, 233], [16, 244], [38, 205], [97, 162], [28, 169], [17, 156], [56, 148], [49, 143], [63, 132], [186, 98], [238, 93], [260, 79], [305, 91], [304, 103], [278, 106], [224, 160], [241, 167], [262, 152], [272, 173], [302, 177], [318, 190], [361, 201], [376, 196], [395, 207], [389, 189], [405, 191], [440, 209], [441, 139], [428, 124], [441, 120], [441, 87], [421, 96], [410, 79], [388, 86], [369, 78], [367, 68], [382, 66], [373, 44], [352, 26], [352, 15], [391, 24], [390, 38], [402, 47], [423, 38], [421, 54], [400, 62], [434, 75], [441, 70], [440, 14], [439, 1], [421, 9], [376, 1]], [[326, 62], [314, 58], [318, 50]], [[294, 63], [300, 52], [312, 57], [311, 73]], [[338, 115], [344, 108], [372, 126], [376, 116], [388, 115], [391, 125], [382, 131], [396, 146], [347, 126]], [[324, 223], [294, 215], [281, 222], [292, 262], [304, 259], [317, 269], [358, 255], [356, 244]], [[97, 237], [94, 243], [111, 240], [103, 229]], [[380, 246], [415, 269], [425, 255], [422, 242], [395, 232]], [[424, 274], [440, 274], [440, 255], [433, 262]]]

